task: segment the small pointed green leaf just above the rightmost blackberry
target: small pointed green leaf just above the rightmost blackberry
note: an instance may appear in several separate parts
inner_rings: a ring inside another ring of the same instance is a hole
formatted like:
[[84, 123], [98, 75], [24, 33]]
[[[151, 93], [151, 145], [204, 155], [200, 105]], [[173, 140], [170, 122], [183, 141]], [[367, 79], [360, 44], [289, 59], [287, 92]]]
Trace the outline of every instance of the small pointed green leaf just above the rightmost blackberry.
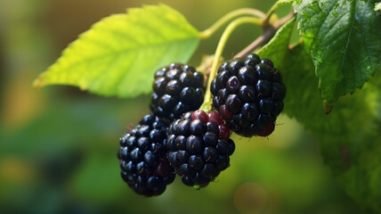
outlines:
[[293, 18], [284, 24], [272, 37], [269, 43], [264, 45], [258, 55], [261, 58], [268, 58], [274, 62], [275, 67], [280, 69], [285, 54], [288, 52], [288, 43], [291, 37], [292, 29], [294, 28], [296, 19]]

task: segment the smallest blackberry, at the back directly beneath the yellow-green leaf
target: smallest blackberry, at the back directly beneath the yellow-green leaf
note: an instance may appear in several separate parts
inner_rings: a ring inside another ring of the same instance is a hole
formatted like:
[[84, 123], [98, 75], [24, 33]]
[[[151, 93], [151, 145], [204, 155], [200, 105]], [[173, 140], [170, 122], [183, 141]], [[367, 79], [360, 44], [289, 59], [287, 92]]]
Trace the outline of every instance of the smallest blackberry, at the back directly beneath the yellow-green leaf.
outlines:
[[204, 75], [190, 65], [171, 63], [156, 71], [150, 110], [172, 122], [182, 113], [199, 109], [204, 100]]

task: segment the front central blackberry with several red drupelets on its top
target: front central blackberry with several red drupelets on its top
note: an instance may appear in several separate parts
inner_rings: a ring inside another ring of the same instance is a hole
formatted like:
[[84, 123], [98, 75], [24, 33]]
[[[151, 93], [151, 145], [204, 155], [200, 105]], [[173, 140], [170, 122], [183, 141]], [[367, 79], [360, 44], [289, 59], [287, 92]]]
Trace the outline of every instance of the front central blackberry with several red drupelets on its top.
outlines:
[[184, 185], [206, 186], [230, 164], [230, 129], [215, 111], [191, 111], [169, 126], [168, 161]]

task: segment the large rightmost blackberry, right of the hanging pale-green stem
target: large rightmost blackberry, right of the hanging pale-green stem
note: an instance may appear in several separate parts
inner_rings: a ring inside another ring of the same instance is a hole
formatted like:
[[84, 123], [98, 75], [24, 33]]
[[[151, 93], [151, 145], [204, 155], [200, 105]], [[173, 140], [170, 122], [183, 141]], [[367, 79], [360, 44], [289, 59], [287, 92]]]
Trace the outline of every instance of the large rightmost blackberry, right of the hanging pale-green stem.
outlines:
[[210, 90], [215, 109], [240, 136], [269, 136], [286, 95], [280, 71], [255, 53], [224, 62]]

